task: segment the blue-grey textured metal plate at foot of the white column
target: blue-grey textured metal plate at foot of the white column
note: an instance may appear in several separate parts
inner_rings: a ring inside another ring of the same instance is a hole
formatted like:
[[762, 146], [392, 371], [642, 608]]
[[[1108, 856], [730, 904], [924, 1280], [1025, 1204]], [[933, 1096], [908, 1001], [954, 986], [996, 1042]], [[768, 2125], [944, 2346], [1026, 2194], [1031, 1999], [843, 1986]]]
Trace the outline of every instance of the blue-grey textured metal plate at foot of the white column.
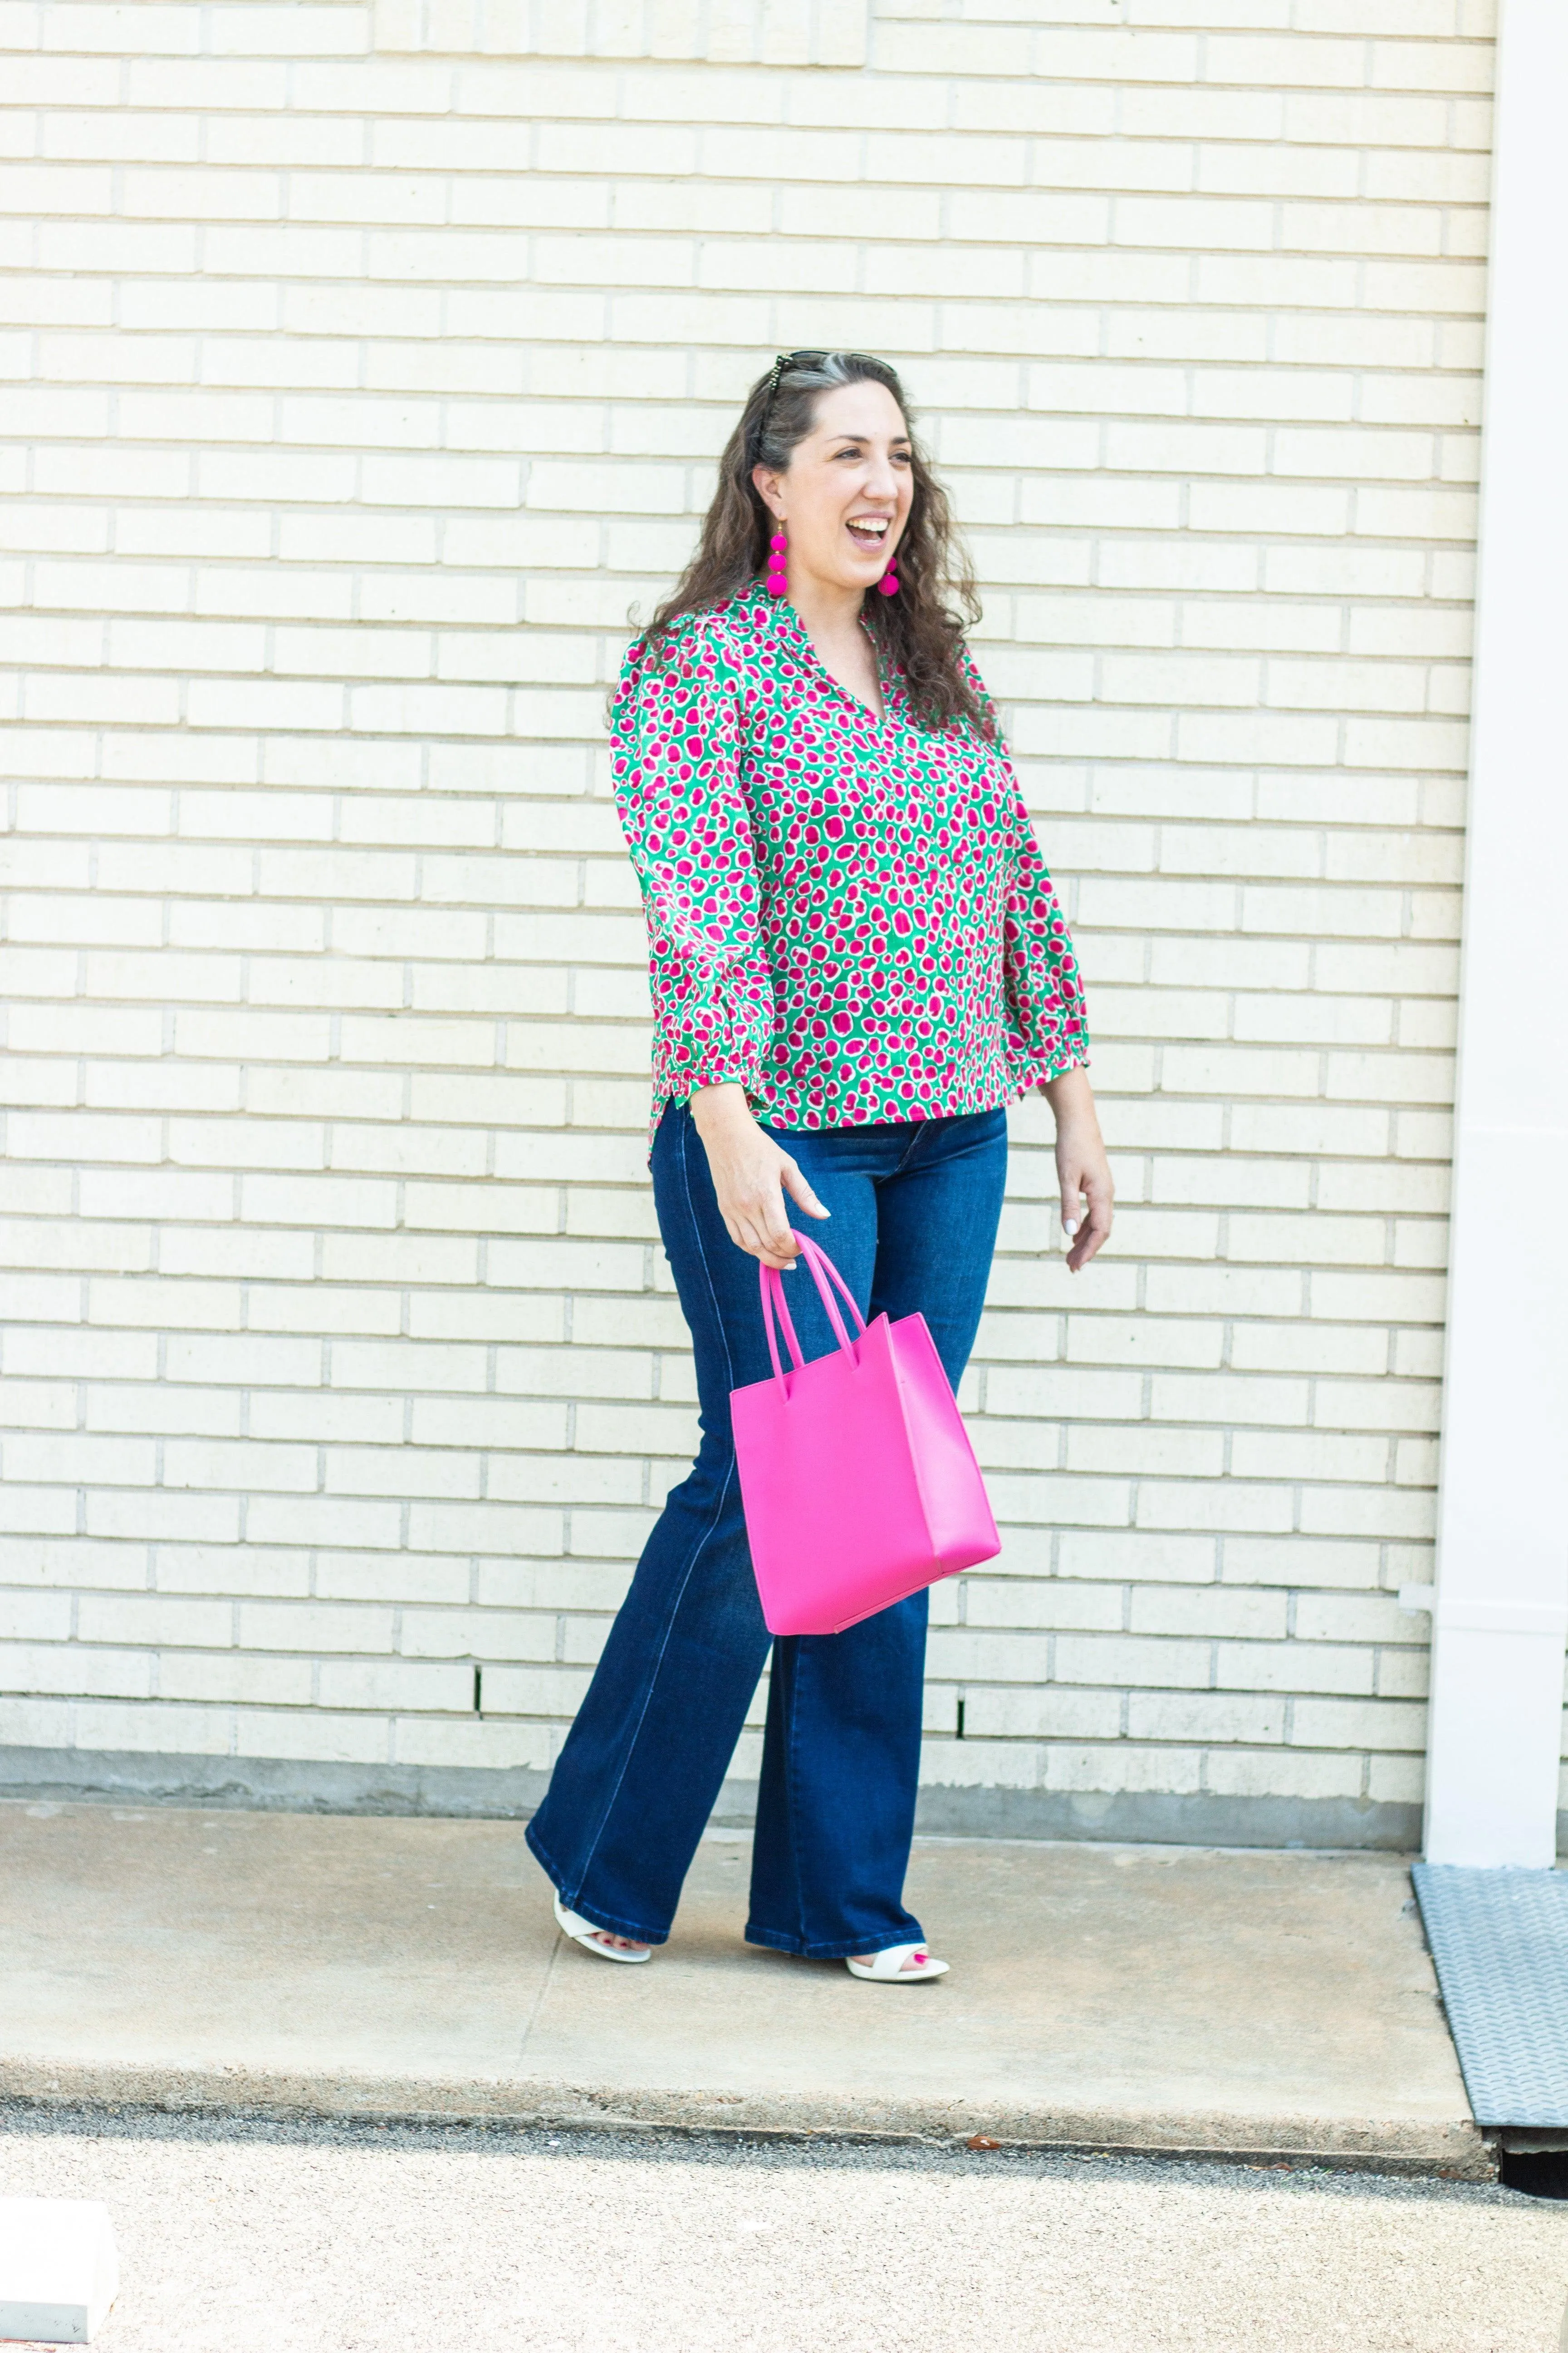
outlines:
[[1568, 1871], [1410, 1878], [1476, 2125], [1568, 2127]]

